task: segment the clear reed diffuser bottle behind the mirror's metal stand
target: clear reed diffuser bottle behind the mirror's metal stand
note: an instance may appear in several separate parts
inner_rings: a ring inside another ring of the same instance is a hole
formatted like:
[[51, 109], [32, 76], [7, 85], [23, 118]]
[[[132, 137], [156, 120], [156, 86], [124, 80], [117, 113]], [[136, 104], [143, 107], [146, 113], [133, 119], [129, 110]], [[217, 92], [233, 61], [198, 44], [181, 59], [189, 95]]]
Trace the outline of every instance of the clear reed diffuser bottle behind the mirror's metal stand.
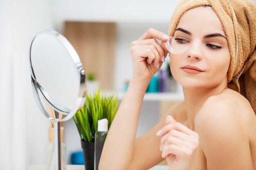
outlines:
[[[45, 148], [45, 170], [55, 170], [55, 154], [54, 154], [54, 128], [49, 127], [49, 144]], [[61, 170], [66, 170], [67, 166], [67, 149], [63, 143], [64, 128], [61, 127]]]

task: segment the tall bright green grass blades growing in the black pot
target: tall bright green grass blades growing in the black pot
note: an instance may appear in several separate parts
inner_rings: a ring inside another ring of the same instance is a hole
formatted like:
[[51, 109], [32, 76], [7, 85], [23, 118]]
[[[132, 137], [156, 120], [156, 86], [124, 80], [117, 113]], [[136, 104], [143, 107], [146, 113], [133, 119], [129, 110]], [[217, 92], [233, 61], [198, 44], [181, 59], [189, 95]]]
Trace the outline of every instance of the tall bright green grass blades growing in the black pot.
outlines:
[[76, 112], [73, 119], [83, 141], [94, 142], [94, 134], [97, 132], [98, 120], [108, 119], [108, 129], [117, 113], [117, 96], [114, 94], [106, 97], [98, 91], [94, 95], [86, 95], [84, 106]]

